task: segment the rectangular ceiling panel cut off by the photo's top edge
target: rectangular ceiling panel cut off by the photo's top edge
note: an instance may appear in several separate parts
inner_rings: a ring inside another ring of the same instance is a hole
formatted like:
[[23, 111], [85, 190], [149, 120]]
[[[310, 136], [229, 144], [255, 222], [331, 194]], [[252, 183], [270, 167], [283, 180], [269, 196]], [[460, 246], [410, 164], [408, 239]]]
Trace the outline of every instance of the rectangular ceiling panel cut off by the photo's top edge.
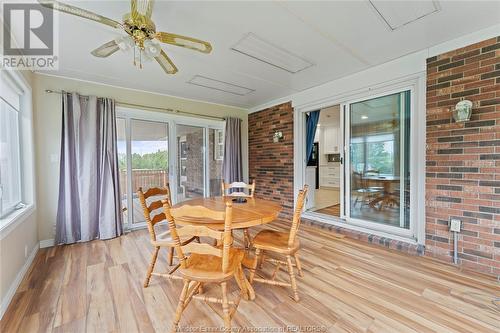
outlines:
[[369, 1], [391, 30], [396, 30], [441, 10], [437, 1]]

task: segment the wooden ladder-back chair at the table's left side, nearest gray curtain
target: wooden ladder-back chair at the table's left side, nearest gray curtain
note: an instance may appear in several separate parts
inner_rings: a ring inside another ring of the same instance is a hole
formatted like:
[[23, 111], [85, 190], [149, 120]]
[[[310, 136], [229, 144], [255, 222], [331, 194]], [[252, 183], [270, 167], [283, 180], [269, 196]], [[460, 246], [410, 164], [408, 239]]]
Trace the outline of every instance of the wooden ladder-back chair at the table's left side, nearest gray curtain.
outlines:
[[[162, 200], [165, 200], [167, 204], [171, 205], [170, 199], [170, 189], [168, 185], [166, 187], [152, 187], [148, 189], [146, 192], [143, 192], [142, 187], [139, 187], [137, 190], [137, 196], [139, 197], [139, 201], [141, 202], [142, 210], [144, 212], [144, 218], [146, 219], [146, 224], [149, 230], [150, 242], [154, 246], [153, 257], [151, 258], [151, 263], [149, 264], [148, 271], [146, 273], [146, 279], [144, 281], [144, 288], [149, 286], [149, 281], [151, 280], [152, 275], [162, 276], [167, 278], [178, 278], [172, 273], [174, 273], [179, 265], [176, 265], [173, 269], [171, 269], [168, 273], [155, 273], [154, 268], [156, 264], [156, 260], [158, 258], [158, 252], [160, 248], [168, 249], [168, 264], [172, 266], [173, 263], [173, 255], [174, 255], [174, 242], [170, 236], [170, 230], [163, 232], [161, 234], [156, 234], [155, 225], [162, 221], [166, 221], [165, 213], [160, 211], [158, 214], [153, 215], [153, 211], [163, 208]], [[157, 200], [151, 201], [148, 204], [148, 199], [158, 197]], [[182, 244], [188, 244], [195, 240], [195, 237], [188, 237], [182, 239]]]

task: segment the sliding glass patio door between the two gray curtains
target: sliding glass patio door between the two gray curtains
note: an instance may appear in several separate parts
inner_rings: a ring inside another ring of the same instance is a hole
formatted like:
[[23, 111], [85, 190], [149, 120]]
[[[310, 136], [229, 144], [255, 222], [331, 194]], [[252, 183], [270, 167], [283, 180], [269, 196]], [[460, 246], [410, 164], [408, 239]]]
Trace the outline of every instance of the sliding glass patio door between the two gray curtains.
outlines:
[[168, 185], [174, 203], [220, 195], [223, 121], [123, 108], [116, 127], [127, 227], [145, 225], [139, 188], [147, 191]]

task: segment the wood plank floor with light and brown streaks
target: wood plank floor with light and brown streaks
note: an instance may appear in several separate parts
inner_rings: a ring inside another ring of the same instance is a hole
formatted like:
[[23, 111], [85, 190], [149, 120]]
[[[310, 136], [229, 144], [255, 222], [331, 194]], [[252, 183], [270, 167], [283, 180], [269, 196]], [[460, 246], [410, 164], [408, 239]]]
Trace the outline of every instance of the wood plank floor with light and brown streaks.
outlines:
[[[289, 222], [288, 222], [289, 223]], [[283, 229], [284, 222], [267, 227]], [[329, 332], [499, 332], [496, 280], [451, 265], [339, 239], [301, 226], [305, 276], [301, 301], [286, 288], [254, 284], [255, 301], [242, 301], [234, 327], [313, 325]], [[256, 230], [251, 230], [255, 235]], [[238, 233], [238, 236], [241, 233]], [[182, 281], [142, 283], [152, 248], [146, 230], [118, 239], [40, 250], [1, 322], [1, 332], [164, 332]], [[166, 269], [166, 252], [158, 268]], [[264, 268], [271, 274], [270, 264]], [[286, 278], [284, 272], [278, 274]], [[230, 285], [233, 294], [236, 286]], [[211, 293], [210, 286], [205, 292]], [[181, 326], [220, 327], [199, 301]], [[195, 331], [192, 330], [192, 331]]]

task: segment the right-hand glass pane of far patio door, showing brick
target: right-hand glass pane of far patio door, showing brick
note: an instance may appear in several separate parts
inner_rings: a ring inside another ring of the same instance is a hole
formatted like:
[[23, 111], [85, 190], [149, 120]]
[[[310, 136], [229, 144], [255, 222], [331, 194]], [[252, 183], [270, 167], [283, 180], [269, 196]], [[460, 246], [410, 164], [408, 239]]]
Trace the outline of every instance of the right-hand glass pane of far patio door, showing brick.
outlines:
[[177, 202], [205, 195], [205, 128], [176, 126]]

